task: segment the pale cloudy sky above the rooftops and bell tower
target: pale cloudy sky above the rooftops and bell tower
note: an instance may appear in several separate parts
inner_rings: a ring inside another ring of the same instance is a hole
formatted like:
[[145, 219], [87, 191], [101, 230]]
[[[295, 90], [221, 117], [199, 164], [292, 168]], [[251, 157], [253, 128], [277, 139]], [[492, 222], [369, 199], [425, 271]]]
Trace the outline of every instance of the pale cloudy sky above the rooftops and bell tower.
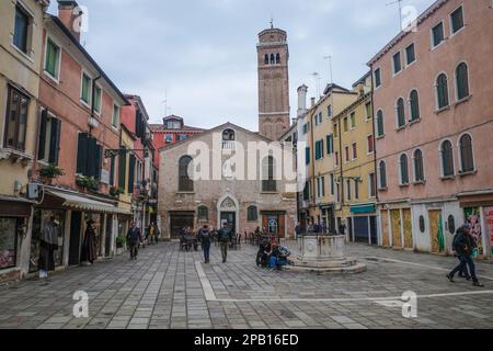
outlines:
[[[125, 93], [144, 99], [152, 123], [168, 114], [213, 127], [227, 121], [257, 131], [257, 34], [288, 33], [290, 105], [302, 83], [317, 94], [329, 80], [351, 88], [399, 30], [393, 0], [79, 0], [89, 10], [83, 41]], [[50, 12], [57, 12], [51, 1]], [[425, 10], [434, 0], [404, 0]]]

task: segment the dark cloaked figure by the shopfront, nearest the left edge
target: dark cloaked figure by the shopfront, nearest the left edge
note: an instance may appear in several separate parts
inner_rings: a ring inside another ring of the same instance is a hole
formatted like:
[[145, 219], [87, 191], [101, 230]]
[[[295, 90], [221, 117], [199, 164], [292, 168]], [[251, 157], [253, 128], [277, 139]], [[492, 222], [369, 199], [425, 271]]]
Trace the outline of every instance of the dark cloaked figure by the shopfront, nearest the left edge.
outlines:
[[59, 222], [51, 216], [41, 233], [39, 279], [48, 278], [48, 272], [55, 270], [55, 251], [58, 250]]

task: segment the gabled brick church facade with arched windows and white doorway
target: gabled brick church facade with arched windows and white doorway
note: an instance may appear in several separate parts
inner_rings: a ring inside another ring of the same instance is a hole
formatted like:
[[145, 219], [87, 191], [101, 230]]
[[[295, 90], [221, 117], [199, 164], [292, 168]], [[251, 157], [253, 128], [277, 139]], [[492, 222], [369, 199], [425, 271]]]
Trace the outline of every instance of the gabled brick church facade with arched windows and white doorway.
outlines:
[[[161, 149], [159, 214], [163, 239], [180, 229], [223, 223], [236, 234], [265, 228], [291, 238], [296, 176], [278, 143], [227, 123]], [[272, 148], [270, 151], [268, 149]], [[290, 149], [291, 146], [286, 146]], [[295, 188], [294, 188], [295, 186]]]

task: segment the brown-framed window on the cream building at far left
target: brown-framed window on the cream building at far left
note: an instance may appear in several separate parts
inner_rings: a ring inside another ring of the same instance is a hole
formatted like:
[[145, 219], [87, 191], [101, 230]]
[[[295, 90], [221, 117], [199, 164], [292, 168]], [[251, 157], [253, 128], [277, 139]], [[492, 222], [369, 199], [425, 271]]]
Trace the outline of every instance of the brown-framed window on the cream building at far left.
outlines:
[[10, 86], [7, 95], [3, 146], [24, 152], [30, 99]]

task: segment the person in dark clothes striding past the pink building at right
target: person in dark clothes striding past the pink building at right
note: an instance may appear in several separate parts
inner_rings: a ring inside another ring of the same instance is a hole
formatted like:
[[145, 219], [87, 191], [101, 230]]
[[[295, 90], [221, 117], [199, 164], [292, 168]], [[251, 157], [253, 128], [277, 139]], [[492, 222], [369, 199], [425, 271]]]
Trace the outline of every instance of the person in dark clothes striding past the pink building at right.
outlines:
[[458, 272], [466, 272], [467, 268], [469, 268], [469, 273], [472, 278], [472, 285], [482, 287], [484, 286], [478, 280], [475, 275], [475, 267], [474, 260], [472, 258], [474, 251], [474, 238], [470, 235], [470, 228], [468, 226], [462, 226], [457, 230], [458, 237], [454, 239], [454, 250], [460, 257], [460, 263], [457, 265], [449, 274], [447, 274], [447, 279], [455, 283], [454, 276]]

